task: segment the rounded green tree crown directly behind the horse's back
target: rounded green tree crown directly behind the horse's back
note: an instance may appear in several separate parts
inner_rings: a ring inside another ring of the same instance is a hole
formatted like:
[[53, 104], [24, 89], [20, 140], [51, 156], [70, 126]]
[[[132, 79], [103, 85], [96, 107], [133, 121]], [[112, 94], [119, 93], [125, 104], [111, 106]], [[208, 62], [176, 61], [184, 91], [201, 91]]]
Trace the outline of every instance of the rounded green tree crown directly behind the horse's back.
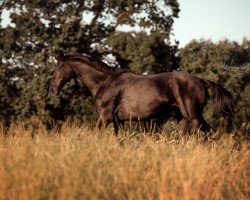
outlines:
[[118, 32], [108, 38], [112, 53], [122, 66], [137, 73], [159, 73], [178, 68], [177, 46], [164, 42], [164, 35], [154, 32]]

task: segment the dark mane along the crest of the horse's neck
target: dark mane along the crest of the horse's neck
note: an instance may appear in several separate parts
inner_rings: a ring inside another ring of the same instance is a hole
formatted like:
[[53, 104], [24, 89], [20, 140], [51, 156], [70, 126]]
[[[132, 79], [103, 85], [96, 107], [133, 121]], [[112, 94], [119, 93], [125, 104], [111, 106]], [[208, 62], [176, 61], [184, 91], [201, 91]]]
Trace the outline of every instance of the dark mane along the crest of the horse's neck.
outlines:
[[107, 73], [110, 75], [121, 75], [126, 70], [121, 69], [121, 68], [115, 68], [115, 67], [110, 67], [108, 64], [103, 62], [101, 59], [87, 55], [87, 54], [67, 54], [64, 52], [59, 52], [58, 56], [56, 56], [57, 60], [60, 61], [67, 61], [67, 60], [73, 60], [73, 61], [78, 61], [82, 63], [86, 63], [89, 66], [93, 67], [97, 71], [101, 71], [103, 73]]

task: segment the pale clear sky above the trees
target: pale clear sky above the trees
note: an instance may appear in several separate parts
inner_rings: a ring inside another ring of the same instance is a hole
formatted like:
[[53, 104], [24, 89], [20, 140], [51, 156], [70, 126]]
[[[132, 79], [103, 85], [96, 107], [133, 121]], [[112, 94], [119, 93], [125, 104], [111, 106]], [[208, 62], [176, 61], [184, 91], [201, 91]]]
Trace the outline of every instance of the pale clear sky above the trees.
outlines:
[[[250, 0], [178, 0], [179, 18], [175, 19], [172, 40], [184, 47], [192, 39], [214, 42], [250, 39]], [[8, 23], [4, 12], [3, 24]]]

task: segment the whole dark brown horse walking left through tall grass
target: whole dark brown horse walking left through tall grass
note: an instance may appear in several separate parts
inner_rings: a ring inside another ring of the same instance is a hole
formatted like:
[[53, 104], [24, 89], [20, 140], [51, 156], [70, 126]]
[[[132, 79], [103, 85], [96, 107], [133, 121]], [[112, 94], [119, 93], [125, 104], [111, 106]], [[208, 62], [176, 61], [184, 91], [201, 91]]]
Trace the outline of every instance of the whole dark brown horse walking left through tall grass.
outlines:
[[214, 128], [202, 116], [209, 96], [219, 113], [228, 119], [233, 117], [234, 100], [226, 89], [185, 72], [144, 76], [112, 68], [91, 56], [63, 52], [56, 60], [50, 92], [57, 94], [70, 79], [77, 77], [95, 98], [99, 129], [113, 122], [117, 134], [119, 124], [126, 120], [153, 119], [160, 126], [174, 110], [179, 132], [188, 132], [189, 123], [212, 132]]

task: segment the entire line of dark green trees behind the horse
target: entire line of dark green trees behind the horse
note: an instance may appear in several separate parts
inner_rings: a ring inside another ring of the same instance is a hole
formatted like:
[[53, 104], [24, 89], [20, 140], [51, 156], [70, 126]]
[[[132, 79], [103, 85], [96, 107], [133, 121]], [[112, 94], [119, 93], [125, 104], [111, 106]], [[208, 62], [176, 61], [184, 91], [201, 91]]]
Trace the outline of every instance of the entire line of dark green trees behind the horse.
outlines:
[[[7, 10], [11, 23], [0, 28], [0, 120], [7, 125], [12, 120], [28, 120], [48, 127], [66, 118], [94, 122], [94, 100], [77, 80], [68, 83], [59, 96], [48, 94], [54, 52], [63, 49], [100, 56], [111, 66], [136, 73], [185, 70], [216, 81], [236, 98], [235, 123], [249, 121], [250, 41], [200, 40], [179, 48], [178, 42], [170, 42], [179, 4], [177, 0], [160, 4], [4, 1], [0, 12]], [[121, 31], [124, 26], [129, 31]], [[209, 107], [206, 113], [207, 118], [217, 119]]]

